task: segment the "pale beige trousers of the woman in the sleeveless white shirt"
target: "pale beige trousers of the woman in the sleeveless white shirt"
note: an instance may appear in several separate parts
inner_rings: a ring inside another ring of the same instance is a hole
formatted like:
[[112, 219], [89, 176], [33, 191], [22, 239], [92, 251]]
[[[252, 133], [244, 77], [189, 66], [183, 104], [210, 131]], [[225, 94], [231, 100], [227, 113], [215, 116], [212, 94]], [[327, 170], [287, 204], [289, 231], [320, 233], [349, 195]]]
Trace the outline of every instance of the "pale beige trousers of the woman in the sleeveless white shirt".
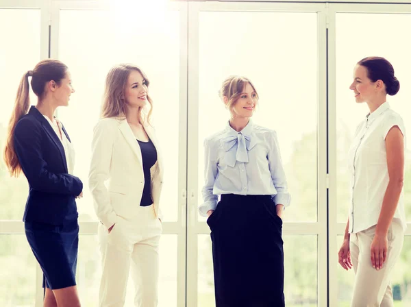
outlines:
[[393, 307], [393, 291], [390, 276], [403, 245], [403, 229], [393, 221], [388, 229], [387, 260], [377, 271], [371, 264], [371, 243], [375, 235], [375, 225], [351, 234], [349, 249], [356, 282], [354, 283], [351, 307]]

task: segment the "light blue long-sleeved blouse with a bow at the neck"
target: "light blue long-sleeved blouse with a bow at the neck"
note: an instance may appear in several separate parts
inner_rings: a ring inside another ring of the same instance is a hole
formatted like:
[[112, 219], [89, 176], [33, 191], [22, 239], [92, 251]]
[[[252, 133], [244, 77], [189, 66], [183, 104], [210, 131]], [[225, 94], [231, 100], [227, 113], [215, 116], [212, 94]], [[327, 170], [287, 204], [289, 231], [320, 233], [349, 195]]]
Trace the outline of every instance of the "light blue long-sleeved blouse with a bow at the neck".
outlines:
[[229, 123], [204, 141], [205, 184], [201, 216], [215, 210], [218, 195], [272, 195], [274, 203], [290, 205], [290, 194], [277, 134], [251, 121], [236, 132]]

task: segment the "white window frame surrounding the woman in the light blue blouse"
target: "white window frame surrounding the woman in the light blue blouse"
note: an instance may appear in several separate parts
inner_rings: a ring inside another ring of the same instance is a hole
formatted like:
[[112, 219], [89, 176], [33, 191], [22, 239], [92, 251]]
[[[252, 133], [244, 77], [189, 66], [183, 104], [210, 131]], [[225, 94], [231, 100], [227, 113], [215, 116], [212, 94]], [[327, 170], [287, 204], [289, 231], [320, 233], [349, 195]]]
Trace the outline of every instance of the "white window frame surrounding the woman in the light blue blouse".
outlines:
[[[188, 6], [188, 258], [187, 306], [197, 306], [199, 234], [210, 234], [208, 225], [198, 221], [198, 117], [199, 117], [199, 12], [316, 12], [318, 16], [318, 126], [326, 127], [326, 6], [324, 3], [228, 3], [190, 2]], [[318, 131], [317, 201], [314, 223], [284, 223], [283, 234], [316, 235], [318, 240], [318, 304], [327, 305], [327, 133]], [[286, 255], [285, 255], [286, 256]]]

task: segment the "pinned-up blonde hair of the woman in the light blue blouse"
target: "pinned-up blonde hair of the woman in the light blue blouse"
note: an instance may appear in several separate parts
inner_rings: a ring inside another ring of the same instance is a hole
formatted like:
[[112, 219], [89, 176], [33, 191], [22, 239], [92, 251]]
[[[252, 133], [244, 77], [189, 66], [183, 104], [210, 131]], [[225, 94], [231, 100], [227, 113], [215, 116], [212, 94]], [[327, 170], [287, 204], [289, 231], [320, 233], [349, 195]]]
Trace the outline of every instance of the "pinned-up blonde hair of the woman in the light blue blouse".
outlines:
[[223, 85], [219, 90], [219, 96], [221, 99], [223, 99], [223, 97], [227, 97], [228, 102], [225, 104], [225, 106], [228, 110], [232, 111], [232, 108], [234, 108], [236, 101], [241, 96], [242, 90], [244, 90], [247, 83], [251, 85], [258, 97], [256, 87], [253, 85], [250, 79], [239, 75], [232, 75], [224, 80]]

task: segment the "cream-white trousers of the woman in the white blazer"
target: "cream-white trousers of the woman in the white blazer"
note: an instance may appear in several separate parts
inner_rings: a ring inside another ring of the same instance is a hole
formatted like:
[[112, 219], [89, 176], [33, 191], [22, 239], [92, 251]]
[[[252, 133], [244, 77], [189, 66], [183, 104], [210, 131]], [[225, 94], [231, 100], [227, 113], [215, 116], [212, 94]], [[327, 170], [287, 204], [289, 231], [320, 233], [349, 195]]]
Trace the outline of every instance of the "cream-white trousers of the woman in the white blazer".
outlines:
[[133, 219], [118, 217], [110, 234], [99, 223], [99, 248], [103, 274], [99, 306], [123, 307], [130, 264], [136, 287], [134, 304], [155, 307], [158, 304], [158, 245], [162, 232], [153, 206], [136, 208]]

